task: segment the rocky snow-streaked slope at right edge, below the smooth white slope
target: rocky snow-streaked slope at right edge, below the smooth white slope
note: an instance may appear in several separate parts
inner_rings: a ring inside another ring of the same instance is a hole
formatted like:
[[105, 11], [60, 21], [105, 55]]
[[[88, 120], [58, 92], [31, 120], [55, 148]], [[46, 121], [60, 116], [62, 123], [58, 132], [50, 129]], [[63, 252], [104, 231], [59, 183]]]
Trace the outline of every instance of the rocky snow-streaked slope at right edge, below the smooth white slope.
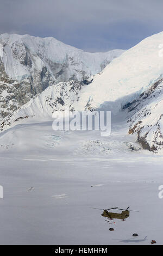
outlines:
[[156, 80], [129, 106], [129, 134], [136, 133], [143, 149], [163, 149], [163, 78]]

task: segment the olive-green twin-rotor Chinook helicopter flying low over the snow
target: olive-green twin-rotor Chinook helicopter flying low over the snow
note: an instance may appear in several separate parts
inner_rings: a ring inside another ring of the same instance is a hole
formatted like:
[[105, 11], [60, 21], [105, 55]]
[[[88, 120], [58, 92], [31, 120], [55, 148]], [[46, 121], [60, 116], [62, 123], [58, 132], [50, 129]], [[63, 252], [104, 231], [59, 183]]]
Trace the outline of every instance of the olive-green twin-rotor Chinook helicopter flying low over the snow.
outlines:
[[[99, 209], [99, 208], [92, 208], [92, 209], [103, 210], [102, 216], [106, 217], [106, 218], [109, 218], [110, 220], [113, 220], [114, 218], [118, 218], [118, 219], [124, 221], [130, 215], [131, 210], [130, 211], [128, 210], [129, 207], [130, 206], [128, 206], [128, 208], [126, 210], [125, 209], [120, 209], [118, 207], [113, 207], [113, 208], [110, 208], [110, 209]], [[109, 212], [108, 210], [111, 210], [111, 209], [122, 210], [122, 212], [121, 212], [121, 214], [117, 214], [116, 212]], [[138, 212], [138, 211], [136, 211], [136, 212]]]

